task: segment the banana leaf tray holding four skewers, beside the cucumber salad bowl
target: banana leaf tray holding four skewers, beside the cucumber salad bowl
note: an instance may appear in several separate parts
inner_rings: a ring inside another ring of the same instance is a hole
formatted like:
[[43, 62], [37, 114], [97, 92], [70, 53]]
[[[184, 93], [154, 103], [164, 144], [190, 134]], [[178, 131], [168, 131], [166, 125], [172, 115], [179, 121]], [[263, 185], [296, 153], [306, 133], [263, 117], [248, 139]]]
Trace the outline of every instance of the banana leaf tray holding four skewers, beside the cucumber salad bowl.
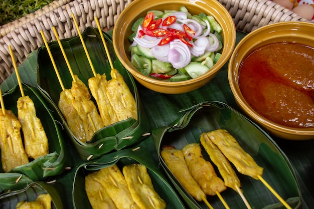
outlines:
[[[144, 109], [141, 105], [134, 80], [128, 71], [122, 66], [120, 61], [116, 58], [111, 38], [108, 37], [106, 33], [103, 33], [103, 35], [105, 37], [114, 68], [117, 69], [123, 76], [124, 81], [135, 98], [137, 103], [138, 119], [135, 120], [133, 118], [129, 118], [124, 121], [119, 121], [112, 125], [106, 126], [98, 130], [93, 135], [92, 139], [87, 143], [81, 142], [72, 134], [63, 115], [58, 110], [57, 104], [59, 101], [60, 92], [62, 91], [61, 86], [52, 66], [52, 62], [46, 47], [43, 46], [38, 51], [38, 87], [46, 96], [47, 101], [49, 101], [55, 107], [62, 123], [65, 126], [65, 129], [68, 132], [70, 139], [75, 144], [83, 160], [86, 160], [91, 155], [93, 156], [91, 159], [99, 158], [103, 154], [109, 153], [110, 151], [120, 150], [124, 147], [130, 146], [138, 140], [143, 139], [144, 137], [142, 137], [142, 135], [147, 131], [148, 128], [147, 119]], [[105, 73], [107, 80], [110, 80], [111, 68], [98, 30], [88, 27], [82, 33], [82, 37], [89, 52], [95, 72], [101, 75]], [[87, 60], [80, 38], [77, 36], [61, 40], [61, 42], [69, 63], [71, 64], [73, 73], [78, 75], [79, 79], [82, 80], [86, 86], [88, 86], [88, 79], [94, 75]], [[49, 48], [51, 49], [52, 56], [54, 57], [64, 87], [66, 89], [70, 89], [72, 85], [72, 77], [58, 43], [49, 43]], [[131, 138], [125, 139], [129, 137]]]

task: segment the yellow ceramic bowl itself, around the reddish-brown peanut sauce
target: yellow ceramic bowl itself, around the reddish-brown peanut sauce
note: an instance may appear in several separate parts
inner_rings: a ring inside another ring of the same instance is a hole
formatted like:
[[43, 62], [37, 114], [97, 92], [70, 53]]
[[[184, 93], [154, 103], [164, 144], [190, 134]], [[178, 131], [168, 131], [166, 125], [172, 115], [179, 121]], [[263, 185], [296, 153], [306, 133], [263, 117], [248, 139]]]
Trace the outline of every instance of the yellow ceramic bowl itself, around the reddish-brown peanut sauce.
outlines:
[[246, 35], [235, 47], [228, 66], [229, 84], [239, 107], [270, 134], [291, 140], [314, 138], [314, 128], [290, 128], [278, 125], [260, 116], [245, 101], [239, 88], [239, 67], [242, 60], [254, 49], [276, 42], [294, 42], [314, 48], [314, 24], [304, 22], [282, 22], [261, 27]]

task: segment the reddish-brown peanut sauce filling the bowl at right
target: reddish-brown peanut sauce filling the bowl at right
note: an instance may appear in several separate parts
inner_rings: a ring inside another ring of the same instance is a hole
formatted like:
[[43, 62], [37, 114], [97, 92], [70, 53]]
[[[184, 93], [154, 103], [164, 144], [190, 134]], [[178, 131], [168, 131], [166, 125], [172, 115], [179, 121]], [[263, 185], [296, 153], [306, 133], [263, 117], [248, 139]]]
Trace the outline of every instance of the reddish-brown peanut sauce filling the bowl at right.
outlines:
[[260, 47], [241, 63], [239, 86], [261, 116], [288, 127], [314, 127], [314, 48], [286, 42]]

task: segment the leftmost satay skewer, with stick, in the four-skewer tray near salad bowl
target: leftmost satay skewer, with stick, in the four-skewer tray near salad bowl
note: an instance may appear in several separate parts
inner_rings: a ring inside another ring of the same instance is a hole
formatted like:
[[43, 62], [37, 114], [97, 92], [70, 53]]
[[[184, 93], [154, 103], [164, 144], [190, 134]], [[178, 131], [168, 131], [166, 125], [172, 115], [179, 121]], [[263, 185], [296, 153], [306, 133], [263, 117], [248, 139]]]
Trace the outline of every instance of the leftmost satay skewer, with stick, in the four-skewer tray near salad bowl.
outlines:
[[[63, 116], [65, 117], [65, 120], [67, 121], [68, 126], [69, 126], [71, 132], [73, 133], [73, 135], [76, 138], [78, 138], [80, 141], [85, 142], [85, 141], [90, 139], [86, 136], [86, 132], [90, 133], [91, 131], [84, 129], [84, 127], [86, 127], [88, 125], [88, 124], [84, 125], [84, 123], [86, 123], [87, 120], [89, 120], [89, 122], [90, 122], [90, 120], [92, 118], [91, 117], [82, 118], [79, 115], [79, 112], [77, 111], [77, 109], [75, 108], [75, 106], [73, 104], [75, 101], [75, 98], [72, 95], [71, 89], [65, 89], [63, 82], [61, 80], [60, 74], [58, 72], [55, 60], [52, 56], [52, 53], [50, 51], [47, 40], [44, 36], [44, 33], [43, 33], [43, 31], [40, 31], [40, 33], [41, 33], [42, 38], [44, 40], [45, 46], [47, 48], [47, 52], [49, 54], [53, 68], [54, 68], [55, 73], [57, 75], [58, 81], [59, 81], [60, 86], [62, 88], [62, 91], [60, 93], [60, 99], [58, 102], [58, 107], [59, 107], [60, 111], [62, 112]], [[86, 115], [84, 114], [84, 116], [86, 116]], [[87, 118], [87, 120], [86, 120], [86, 118]]]

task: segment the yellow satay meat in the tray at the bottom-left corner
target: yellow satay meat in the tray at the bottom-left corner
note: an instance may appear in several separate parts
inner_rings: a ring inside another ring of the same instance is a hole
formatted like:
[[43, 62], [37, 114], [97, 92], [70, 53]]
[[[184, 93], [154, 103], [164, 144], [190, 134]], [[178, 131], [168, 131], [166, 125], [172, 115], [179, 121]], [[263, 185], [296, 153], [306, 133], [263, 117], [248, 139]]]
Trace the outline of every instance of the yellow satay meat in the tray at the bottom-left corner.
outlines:
[[52, 198], [49, 194], [39, 194], [35, 201], [20, 201], [17, 209], [51, 209]]

